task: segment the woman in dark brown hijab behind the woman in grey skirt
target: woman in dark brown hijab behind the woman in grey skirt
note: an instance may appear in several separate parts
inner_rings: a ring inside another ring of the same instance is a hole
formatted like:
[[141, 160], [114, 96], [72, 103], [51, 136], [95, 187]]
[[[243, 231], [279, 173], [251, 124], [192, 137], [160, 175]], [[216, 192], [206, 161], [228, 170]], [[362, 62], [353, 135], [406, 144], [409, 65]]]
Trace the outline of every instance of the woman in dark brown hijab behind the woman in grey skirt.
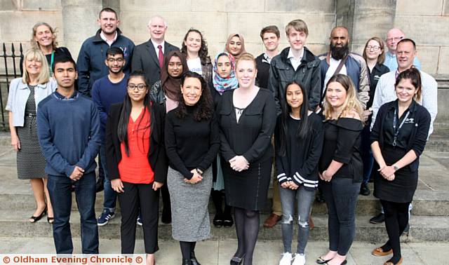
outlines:
[[164, 58], [161, 80], [154, 83], [149, 96], [154, 103], [164, 104], [166, 111], [177, 107], [181, 91], [181, 76], [189, 71], [187, 60], [178, 50], [173, 50]]

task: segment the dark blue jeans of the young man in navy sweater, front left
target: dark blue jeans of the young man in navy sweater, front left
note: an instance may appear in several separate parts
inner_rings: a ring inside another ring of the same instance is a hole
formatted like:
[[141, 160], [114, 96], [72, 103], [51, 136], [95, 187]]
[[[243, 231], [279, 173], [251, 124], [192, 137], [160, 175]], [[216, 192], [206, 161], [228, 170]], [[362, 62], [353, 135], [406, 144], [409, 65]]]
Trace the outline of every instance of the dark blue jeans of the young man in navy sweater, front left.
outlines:
[[72, 254], [70, 232], [72, 212], [72, 184], [75, 186], [76, 204], [81, 217], [81, 245], [83, 254], [98, 254], [98, 226], [95, 219], [95, 172], [83, 175], [74, 182], [69, 177], [48, 175], [48, 193], [55, 212], [53, 240], [56, 253]]

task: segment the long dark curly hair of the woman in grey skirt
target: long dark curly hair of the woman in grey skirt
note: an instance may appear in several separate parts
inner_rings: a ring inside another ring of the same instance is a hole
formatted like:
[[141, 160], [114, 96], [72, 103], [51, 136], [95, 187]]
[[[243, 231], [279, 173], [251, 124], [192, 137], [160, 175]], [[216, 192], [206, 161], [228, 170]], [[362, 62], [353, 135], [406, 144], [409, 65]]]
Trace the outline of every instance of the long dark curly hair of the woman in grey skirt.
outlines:
[[[188, 79], [189, 77], [199, 79], [199, 81], [201, 82], [201, 97], [194, 106], [194, 120], [208, 120], [212, 118], [213, 101], [212, 97], [210, 96], [210, 91], [206, 84], [206, 81], [204, 81], [203, 76], [201, 76], [200, 74], [189, 71], [182, 76], [181, 86], [184, 86], [185, 79]], [[187, 105], [185, 104], [182, 94], [180, 94], [179, 105], [177, 106], [175, 114], [177, 118], [185, 118], [185, 116], [187, 116]]]

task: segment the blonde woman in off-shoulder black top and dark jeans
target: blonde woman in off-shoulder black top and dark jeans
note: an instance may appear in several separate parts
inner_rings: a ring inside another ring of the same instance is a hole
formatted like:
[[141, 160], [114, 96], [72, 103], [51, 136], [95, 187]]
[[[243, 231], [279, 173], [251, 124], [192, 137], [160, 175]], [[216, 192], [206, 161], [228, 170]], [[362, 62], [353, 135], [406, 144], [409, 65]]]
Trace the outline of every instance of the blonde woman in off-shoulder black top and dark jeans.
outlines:
[[328, 208], [329, 251], [318, 264], [346, 264], [356, 235], [356, 203], [362, 181], [360, 154], [363, 107], [351, 79], [332, 76], [323, 103], [324, 142], [319, 176]]

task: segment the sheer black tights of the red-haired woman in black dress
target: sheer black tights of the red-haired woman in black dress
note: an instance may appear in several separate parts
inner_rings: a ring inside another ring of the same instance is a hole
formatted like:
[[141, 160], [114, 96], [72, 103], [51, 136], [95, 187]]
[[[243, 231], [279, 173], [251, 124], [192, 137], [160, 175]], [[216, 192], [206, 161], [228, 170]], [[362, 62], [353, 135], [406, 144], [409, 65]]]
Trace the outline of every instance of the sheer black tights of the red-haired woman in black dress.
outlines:
[[234, 207], [234, 219], [237, 231], [237, 251], [234, 257], [242, 257], [243, 264], [253, 264], [253, 252], [257, 234], [259, 233], [259, 211], [245, 210]]

